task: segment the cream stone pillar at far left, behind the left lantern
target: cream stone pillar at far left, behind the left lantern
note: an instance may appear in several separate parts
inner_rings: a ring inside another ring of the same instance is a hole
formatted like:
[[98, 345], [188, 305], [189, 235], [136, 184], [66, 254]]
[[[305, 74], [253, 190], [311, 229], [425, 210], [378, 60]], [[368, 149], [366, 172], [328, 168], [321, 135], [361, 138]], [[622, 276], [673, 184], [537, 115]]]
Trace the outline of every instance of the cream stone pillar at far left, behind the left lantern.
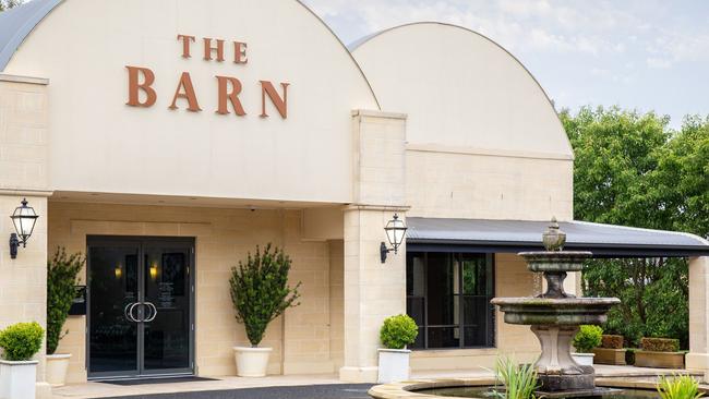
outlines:
[[[0, 74], [0, 328], [47, 327], [47, 81]], [[39, 218], [26, 247], [10, 257], [10, 215], [23, 198]], [[45, 348], [36, 358], [37, 398], [49, 398]]]

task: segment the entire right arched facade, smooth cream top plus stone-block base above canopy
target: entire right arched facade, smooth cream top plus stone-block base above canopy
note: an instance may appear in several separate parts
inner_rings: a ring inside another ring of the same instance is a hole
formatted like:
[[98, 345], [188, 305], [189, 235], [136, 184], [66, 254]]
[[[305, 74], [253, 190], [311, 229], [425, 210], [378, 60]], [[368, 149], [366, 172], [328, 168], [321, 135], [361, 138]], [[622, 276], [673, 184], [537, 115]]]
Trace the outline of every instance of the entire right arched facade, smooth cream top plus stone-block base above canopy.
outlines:
[[380, 104], [406, 112], [409, 216], [573, 218], [573, 152], [529, 72], [488, 38], [419, 23], [352, 55]]

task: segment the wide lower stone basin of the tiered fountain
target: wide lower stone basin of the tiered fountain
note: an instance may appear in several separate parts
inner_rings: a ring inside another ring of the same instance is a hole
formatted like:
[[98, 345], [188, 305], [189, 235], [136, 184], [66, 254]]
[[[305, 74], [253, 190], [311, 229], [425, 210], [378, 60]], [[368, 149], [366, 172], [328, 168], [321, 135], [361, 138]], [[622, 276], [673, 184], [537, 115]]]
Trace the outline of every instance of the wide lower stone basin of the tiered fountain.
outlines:
[[603, 324], [617, 298], [495, 298], [490, 303], [505, 313], [505, 323], [578, 326]]

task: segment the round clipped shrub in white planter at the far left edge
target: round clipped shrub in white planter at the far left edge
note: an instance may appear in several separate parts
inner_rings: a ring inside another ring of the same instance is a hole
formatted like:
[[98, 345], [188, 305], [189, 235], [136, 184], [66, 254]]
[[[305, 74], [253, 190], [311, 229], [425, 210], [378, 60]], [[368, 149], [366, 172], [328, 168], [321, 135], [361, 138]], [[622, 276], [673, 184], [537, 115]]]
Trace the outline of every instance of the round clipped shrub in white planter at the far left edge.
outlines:
[[0, 398], [34, 398], [37, 383], [37, 363], [32, 360], [41, 348], [45, 330], [37, 324], [17, 323], [0, 331]]

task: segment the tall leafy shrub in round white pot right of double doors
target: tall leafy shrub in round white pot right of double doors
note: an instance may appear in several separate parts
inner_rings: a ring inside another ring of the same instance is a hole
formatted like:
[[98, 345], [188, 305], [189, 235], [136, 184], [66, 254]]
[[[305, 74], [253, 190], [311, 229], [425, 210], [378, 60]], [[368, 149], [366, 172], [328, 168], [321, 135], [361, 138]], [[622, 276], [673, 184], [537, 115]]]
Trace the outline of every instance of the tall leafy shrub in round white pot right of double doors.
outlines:
[[231, 301], [236, 317], [247, 329], [251, 347], [235, 347], [237, 375], [263, 377], [273, 348], [259, 348], [268, 323], [288, 307], [297, 306], [300, 282], [288, 286], [291, 261], [280, 249], [268, 244], [263, 253], [256, 246], [255, 255], [249, 253], [247, 262], [231, 268], [229, 279]]

